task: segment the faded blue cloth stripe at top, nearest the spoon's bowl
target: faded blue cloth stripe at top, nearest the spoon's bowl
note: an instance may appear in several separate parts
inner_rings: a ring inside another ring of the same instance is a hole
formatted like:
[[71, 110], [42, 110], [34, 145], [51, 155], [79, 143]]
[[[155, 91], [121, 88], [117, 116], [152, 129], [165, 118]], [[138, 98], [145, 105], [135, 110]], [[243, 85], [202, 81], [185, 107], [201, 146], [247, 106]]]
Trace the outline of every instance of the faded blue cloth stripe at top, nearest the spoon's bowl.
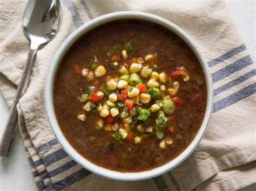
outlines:
[[73, 22], [75, 23], [76, 28], [84, 24], [83, 19], [80, 17], [76, 5], [72, 0], [62, 0], [65, 7], [70, 11], [72, 15]]

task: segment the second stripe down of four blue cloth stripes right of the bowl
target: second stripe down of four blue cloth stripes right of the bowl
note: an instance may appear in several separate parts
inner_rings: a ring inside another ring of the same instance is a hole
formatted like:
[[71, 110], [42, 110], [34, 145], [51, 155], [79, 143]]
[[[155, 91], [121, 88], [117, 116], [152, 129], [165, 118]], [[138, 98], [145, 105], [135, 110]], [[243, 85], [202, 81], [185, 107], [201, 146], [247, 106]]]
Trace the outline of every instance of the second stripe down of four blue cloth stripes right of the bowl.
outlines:
[[241, 58], [235, 62], [233, 62], [231, 65], [228, 65], [217, 72], [212, 73], [212, 81], [213, 83], [224, 79], [224, 77], [227, 77], [234, 72], [237, 72], [238, 70], [245, 68], [248, 65], [251, 65], [253, 63], [250, 55], [245, 56], [244, 58]]

